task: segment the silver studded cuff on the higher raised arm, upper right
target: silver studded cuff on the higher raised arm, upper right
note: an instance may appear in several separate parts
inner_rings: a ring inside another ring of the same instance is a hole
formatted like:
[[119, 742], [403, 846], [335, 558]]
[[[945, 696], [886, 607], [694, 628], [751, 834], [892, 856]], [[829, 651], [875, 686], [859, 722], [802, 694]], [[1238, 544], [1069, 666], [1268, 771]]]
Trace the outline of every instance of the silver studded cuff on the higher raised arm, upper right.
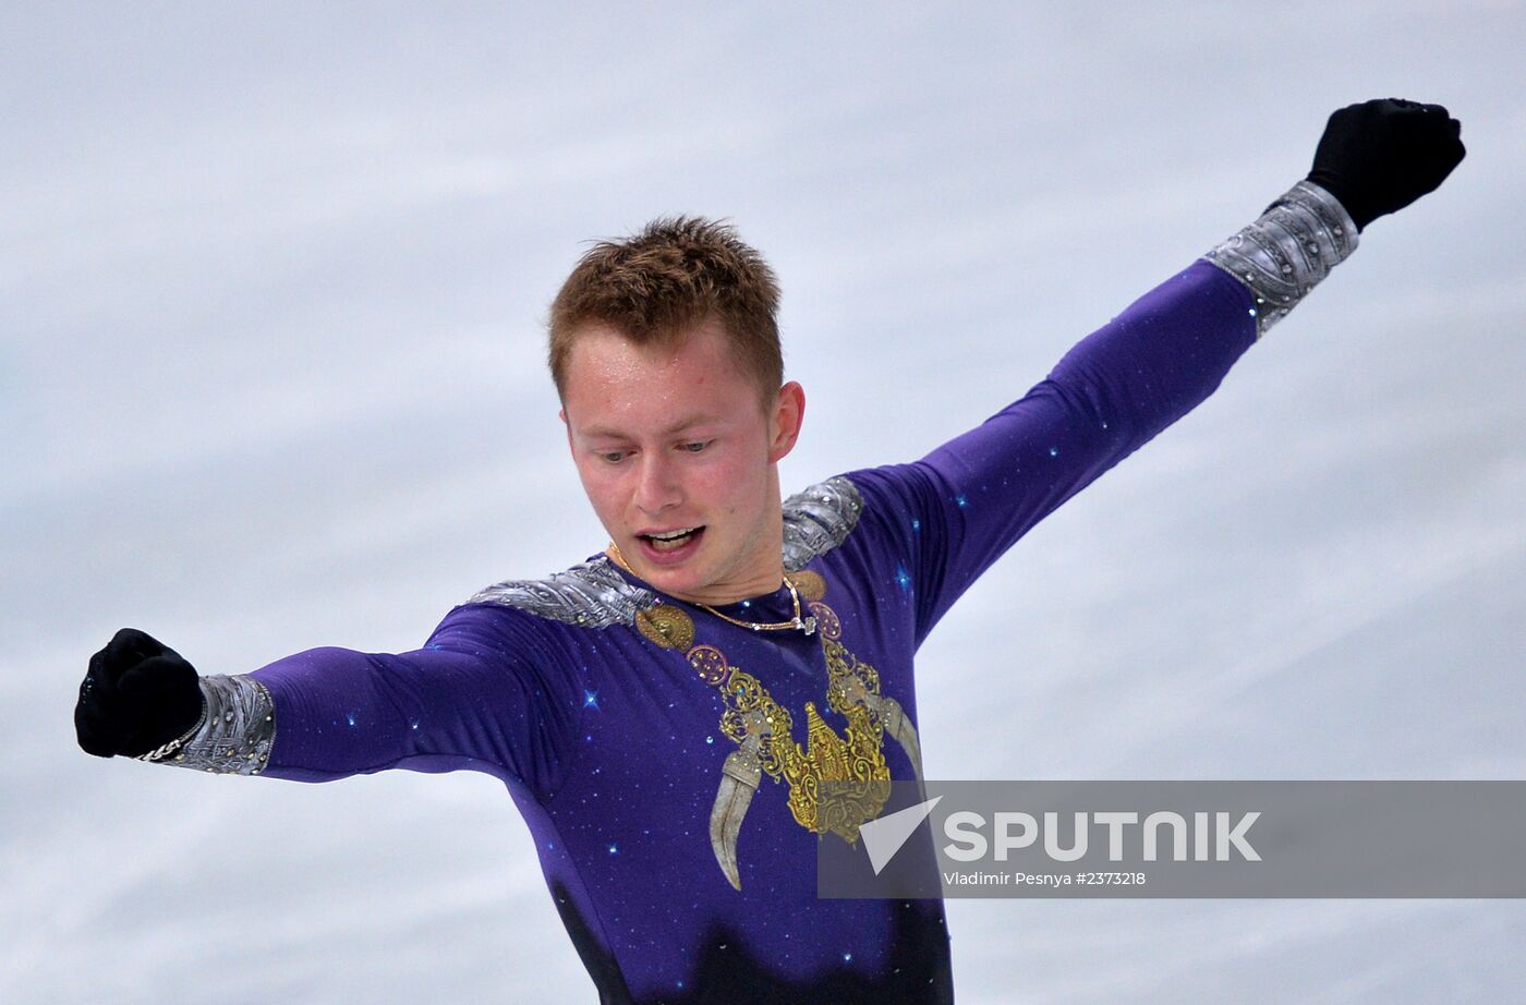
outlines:
[[1355, 250], [1357, 224], [1346, 207], [1312, 181], [1299, 181], [1204, 258], [1256, 297], [1260, 339]]

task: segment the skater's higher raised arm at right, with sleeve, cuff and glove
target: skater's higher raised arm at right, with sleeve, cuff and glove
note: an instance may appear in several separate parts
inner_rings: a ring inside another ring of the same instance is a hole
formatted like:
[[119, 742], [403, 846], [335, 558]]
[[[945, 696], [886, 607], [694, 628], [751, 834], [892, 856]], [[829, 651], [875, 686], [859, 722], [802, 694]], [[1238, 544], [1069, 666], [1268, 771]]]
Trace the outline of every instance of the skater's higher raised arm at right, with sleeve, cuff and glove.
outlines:
[[916, 595], [917, 641], [1033, 525], [1213, 393], [1367, 223], [1439, 186], [1462, 160], [1459, 131], [1439, 105], [1335, 111], [1305, 180], [1082, 339], [1021, 400], [922, 461], [850, 473], [865, 519], [902, 543], [908, 567], [891, 575]]

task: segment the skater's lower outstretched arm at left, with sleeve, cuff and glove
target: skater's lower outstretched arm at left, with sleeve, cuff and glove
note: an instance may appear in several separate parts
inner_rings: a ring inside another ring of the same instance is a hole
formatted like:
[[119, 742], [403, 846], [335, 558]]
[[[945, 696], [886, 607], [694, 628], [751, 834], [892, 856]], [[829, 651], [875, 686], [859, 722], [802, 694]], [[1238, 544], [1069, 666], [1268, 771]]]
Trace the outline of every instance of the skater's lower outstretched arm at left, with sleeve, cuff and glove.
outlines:
[[479, 770], [545, 795], [575, 746], [581, 689], [528, 659], [526, 631], [513, 612], [462, 605], [409, 653], [322, 647], [247, 674], [197, 676], [124, 628], [90, 660], [75, 709], [79, 746], [305, 782]]

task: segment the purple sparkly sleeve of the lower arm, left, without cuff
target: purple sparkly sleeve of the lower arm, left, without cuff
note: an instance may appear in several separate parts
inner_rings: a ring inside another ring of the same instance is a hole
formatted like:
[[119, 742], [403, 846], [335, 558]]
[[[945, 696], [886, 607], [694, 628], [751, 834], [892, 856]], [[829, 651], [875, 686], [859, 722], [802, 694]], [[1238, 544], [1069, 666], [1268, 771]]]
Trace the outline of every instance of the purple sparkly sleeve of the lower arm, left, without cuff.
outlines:
[[577, 730], [575, 668], [531, 660], [513, 612], [452, 610], [409, 653], [307, 650], [249, 674], [270, 691], [276, 732], [264, 775], [320, 782], [388, 769], [478, 770], [554, 791]]

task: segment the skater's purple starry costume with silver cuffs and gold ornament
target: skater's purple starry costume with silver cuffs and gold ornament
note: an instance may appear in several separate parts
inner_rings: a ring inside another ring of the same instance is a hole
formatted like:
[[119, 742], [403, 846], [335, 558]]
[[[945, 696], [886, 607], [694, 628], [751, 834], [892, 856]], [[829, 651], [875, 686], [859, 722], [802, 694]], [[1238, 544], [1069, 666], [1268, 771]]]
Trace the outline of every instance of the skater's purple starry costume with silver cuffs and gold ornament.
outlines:
[[[1029, 528], [1207, 398], [1355, 236], [1300, 183], [980, 427], [786, 500], [812, 634], [736, 627], [595, 555], [479, 592], [410, 653], [317, 648], [204, 677], [208, 726], [169, 763], [494, 775], [604, 1002], [952, 1000], [942, 901], [816, 897], [816, 842], [868, 817], [829, 819], [815, 782], [920, 776], [928, 631]], [[781, 587], [720, 610], [787, 621], [792, 601]]]

